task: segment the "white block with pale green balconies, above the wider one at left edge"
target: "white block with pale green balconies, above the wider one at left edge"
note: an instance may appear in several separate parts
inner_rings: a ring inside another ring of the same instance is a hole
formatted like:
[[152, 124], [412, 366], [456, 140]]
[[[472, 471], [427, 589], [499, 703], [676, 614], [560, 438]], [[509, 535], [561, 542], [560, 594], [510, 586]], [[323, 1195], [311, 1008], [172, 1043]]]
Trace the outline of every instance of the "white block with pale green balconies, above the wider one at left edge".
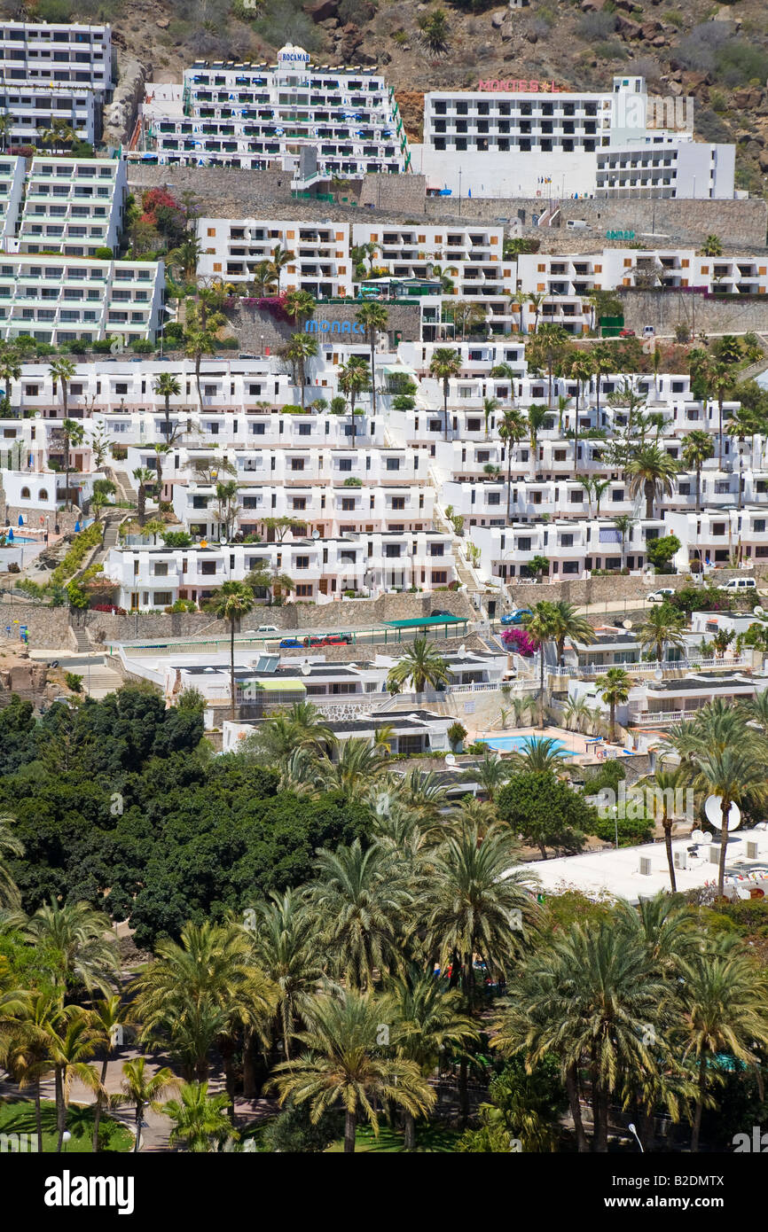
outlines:
[[122, 159], [35, 158], [18, 227], [20, 253], [95, 256], [117, 249], [127, 196]]

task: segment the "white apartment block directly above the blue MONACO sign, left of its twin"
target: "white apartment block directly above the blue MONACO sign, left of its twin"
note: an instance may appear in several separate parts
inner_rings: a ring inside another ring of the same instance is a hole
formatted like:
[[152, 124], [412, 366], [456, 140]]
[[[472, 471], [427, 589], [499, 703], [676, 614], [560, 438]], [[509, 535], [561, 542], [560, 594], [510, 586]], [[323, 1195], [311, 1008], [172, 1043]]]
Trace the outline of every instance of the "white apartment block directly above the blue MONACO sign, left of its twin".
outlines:
[[198, 218], [200, 277], [250, 282], [279, 245], [293, 254], [280, 270], [279, 291], [308, 291], [316, 299], [353, 293], [349, 224], [298, 219]]

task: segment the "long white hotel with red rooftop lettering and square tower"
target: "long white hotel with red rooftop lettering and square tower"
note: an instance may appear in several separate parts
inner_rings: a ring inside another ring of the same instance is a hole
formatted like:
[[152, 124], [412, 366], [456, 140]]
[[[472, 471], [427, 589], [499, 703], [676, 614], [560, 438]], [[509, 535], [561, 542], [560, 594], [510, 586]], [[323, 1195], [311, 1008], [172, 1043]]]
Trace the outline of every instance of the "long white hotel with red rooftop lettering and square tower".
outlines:
[[[641, 76], [615, 76], [610, 92], [565, 91], [539, 80], [430, 91], [413, 169], [427, 175], [428, 186], [459, 196], [537, 195], [557, 202], [648, 196], [652, 188], [660, 196], [732, 197], [733, 147], [694, 144], [685, 108], [679, 121], [672, 108], [671, 128], [657, 126], [652, 111]], [[614, 186], [621, 170], [624, 182]]]

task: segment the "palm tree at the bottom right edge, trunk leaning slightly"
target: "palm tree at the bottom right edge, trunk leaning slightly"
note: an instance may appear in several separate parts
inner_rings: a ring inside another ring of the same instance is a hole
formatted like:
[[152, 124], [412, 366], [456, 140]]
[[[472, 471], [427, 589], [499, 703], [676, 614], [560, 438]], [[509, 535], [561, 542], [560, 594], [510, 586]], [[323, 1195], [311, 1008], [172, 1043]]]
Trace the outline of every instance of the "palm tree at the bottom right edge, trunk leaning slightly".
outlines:
[[745, 1067], [758, 1062], [756, 1045], [768, 1042], [766, 987], [753, 958], [740, 945], [699, 950], [679, 963], [684, 1029], [683, 1056], [695, 1061], [698, 1093], [690, 1149], [699, 1149], [701, 1111], [720, 1053]]

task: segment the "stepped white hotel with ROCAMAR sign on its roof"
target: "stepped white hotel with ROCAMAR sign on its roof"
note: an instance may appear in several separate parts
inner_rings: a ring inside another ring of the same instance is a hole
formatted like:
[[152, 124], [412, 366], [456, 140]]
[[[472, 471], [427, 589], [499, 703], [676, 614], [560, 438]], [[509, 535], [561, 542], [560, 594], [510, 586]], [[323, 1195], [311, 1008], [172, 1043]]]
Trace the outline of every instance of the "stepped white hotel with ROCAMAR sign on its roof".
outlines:
[[313, 65], [291, 44], [272, 65], [196, 62], [180, 99], [149, 97], [141, 121], [141, 150], [159, 163], [263, 170], [277, 161], [303, 186], [333, 175], [399, 174], [411, 164], [385, 79], [369, 68]]

